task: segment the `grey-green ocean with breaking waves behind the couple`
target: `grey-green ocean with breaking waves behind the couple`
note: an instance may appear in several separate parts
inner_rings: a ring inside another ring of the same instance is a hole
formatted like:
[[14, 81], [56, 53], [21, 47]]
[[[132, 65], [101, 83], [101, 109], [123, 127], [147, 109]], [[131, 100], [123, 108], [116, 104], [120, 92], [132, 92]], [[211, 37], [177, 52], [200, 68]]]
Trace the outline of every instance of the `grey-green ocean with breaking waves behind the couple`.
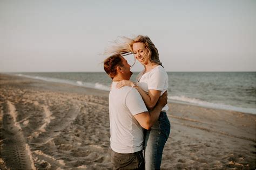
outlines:
[[[14, 73], [52, 82], [110, 90], [106, 73]], [[167, 72], [169, 102], [256, 114], [256, 72]], [[135, 81], [138, 73], [133, 73]]]

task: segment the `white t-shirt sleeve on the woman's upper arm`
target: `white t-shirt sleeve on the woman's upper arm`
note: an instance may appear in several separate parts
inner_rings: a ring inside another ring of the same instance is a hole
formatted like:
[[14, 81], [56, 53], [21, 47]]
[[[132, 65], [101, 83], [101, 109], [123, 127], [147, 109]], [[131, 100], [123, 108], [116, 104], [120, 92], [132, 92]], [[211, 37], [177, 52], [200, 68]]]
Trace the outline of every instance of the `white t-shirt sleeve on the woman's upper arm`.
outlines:
[[147, 86], [149, 90], [152, 89], [163, 91], [165, 89], [166, 80], [166, 73], [162, 72], [161, 70], [156, 70], [150, 74]]

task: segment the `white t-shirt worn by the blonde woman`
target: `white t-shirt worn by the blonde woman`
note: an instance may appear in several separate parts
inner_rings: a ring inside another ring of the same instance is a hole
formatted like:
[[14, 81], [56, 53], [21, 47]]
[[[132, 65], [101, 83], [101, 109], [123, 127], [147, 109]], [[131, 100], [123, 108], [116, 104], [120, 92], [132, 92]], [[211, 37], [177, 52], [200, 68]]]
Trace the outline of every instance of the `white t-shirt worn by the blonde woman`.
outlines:
[[[168, 75], [165, 69], [162, 66], [157, 66], [150, 70], [150, 72], [143, 73], [144, 70], [137, 76], [139, 87], [141, 87], [147, 94], [149, 93], [149, 90], [159, 90], [161, 91], [161, 95], [163, 95], [169, 86]], [[168, 109], [169, 107], [166, 104], [162, 110], [167, 111]]]

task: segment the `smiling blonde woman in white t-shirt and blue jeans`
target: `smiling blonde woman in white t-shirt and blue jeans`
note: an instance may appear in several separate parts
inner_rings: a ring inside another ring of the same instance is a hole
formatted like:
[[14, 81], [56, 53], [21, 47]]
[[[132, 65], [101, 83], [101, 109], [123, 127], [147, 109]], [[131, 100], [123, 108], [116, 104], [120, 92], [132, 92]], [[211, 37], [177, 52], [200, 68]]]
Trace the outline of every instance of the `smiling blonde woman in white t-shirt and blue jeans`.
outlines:
[[[139, 73], [137, 82], [120, 81], [118, 88], [131, 86], [136, 88], [142, 96], [147, 108], [151, 110], [156, 105], [160, 95], [168, 88], [168, 76], [161, 65], [157, 48], [147, 36], [134, 39], [124, 37], [126, 43], [114, 46], [115, 53], [133, 52], [136, 59], [142, 63], [144, 70]], [[160, 169], [164, 145], [169, 138], [171, 126], [166, 111], [166, 104], [159, 119], [151, 130], [145, 130], [145, 169]]]

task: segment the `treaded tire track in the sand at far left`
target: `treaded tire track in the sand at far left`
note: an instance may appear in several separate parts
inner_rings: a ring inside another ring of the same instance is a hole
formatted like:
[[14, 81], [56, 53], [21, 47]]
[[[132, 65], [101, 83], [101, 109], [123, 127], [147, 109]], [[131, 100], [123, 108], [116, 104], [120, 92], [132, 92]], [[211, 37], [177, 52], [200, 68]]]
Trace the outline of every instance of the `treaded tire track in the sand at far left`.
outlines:
[[4, 104], [3, 154], [6, 166], [11, 169], [36, 169], [29, 145], [26, 143], [21, 126], [17, 122], [15, 105]]

